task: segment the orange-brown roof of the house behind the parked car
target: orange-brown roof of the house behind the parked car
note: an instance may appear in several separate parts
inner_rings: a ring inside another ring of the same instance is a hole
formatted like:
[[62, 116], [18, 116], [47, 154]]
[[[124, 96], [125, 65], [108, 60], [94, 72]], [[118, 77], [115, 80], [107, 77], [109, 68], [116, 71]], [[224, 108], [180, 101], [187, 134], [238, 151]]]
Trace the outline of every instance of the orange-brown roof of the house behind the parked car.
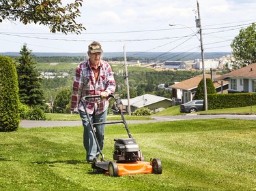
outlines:
[[[215, 75], [216, 77], [221, 77], [221, 75]], [[211, 75], [210, 74], [205, 74], [205, 78], [211, 78]], [[197, 75], [195, 77], [191, 77], [190, 79], [188, 80], [184, 80], [180, 83], [177, 83], [177, 84], [173, 84], [171, 86], [169, 86], [170, 88], [173, 88], [173, 89], [181, 89], [181, 90], [193, 90], [195, 88], [197, 88], [199, 82], [203, 79], [203, 75]], [[221, 82], [213, 82], [214, 84], [214, 87], [215, 88], [218, 88], [218, 87], [221, 87]], [[223, 82], [223, 86], [226, 85], [226, 84], [229, 84], [228, 81], [224, 81]]]

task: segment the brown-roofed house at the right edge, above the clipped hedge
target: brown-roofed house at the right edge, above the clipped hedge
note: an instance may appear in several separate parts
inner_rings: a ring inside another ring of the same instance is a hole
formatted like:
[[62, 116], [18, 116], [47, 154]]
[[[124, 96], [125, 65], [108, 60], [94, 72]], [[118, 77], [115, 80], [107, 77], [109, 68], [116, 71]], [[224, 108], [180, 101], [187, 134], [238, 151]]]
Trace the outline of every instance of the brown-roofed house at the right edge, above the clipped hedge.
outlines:
[[256, 63], [216, 77], [214, 80], [229, 81], [229, 93], [256, 92]]

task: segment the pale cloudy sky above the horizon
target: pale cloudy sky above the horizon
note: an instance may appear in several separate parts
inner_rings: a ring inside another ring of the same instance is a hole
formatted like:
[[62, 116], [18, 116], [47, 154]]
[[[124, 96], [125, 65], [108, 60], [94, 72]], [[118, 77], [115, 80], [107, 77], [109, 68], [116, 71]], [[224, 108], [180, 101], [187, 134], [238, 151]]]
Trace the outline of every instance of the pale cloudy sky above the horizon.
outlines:
[[[27, 44], [32, 52], [86, 54], [91, 41], [99, 41], [104, 52], [201, 52], [201, 41], [204, 52], [231, 52], [240, 30], [256, 22], [255, 0], [198, 2], [199, 12], [196, 0], [84, 0], [76, 19], [87, 29], [81, 35], [3, 20], [0, 52], [19, 52]], [[195, 22], [198, 13], [202, 38]]]

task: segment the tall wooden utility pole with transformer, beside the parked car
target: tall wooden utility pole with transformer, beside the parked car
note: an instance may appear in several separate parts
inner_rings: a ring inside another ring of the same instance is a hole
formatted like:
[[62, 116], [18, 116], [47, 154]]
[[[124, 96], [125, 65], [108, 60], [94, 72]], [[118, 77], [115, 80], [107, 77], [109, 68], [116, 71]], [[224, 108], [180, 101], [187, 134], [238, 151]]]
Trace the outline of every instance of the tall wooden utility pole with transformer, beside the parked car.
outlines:
[[201, 18], [200, 18], [200, 11], [199, 11], [198, 1], [197, 1], [197, 14], [198, 14], [198, 19], [196, 17], [195, 22], [196, 22], [197, 28], [199, 28], [199, 33], [200, 33], [201, 57], [202, 57], [202, 68], [203, 68], [203, 94], [204, 94], [205, 111], [207, 111], [208, 110], [208, 100], [207, 100], [207, 86], [206, 86], [204, 54], [203, 54], [203, 35], [202, 35]]

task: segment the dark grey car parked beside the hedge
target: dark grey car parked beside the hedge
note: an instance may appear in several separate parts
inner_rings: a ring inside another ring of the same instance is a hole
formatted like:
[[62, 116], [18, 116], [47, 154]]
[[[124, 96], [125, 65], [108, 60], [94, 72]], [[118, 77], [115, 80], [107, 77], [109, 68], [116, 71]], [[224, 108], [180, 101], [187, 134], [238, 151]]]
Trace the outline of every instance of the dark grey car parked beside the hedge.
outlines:
[[203, 99], [197, 99], [180, 105], [181, 113], [193, 113], [203, 110]]

